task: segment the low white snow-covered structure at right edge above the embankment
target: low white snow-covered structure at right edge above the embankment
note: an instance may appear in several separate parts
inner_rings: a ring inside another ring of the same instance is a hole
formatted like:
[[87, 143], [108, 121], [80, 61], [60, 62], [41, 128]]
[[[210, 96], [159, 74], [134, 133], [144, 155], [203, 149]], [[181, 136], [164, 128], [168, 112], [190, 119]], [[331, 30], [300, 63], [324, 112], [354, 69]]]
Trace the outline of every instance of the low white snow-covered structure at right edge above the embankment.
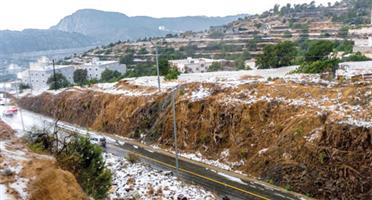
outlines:
[[336, 78], [372, 81], [372, 61], [340, 63]]

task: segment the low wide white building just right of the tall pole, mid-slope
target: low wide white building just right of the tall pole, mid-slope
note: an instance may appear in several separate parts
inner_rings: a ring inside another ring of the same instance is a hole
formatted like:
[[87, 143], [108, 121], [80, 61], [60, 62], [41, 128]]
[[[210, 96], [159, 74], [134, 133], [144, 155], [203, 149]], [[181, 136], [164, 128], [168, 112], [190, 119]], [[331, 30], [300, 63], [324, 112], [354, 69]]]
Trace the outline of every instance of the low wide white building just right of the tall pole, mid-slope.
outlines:
[[221, 63], [223, 61], [225, 60], [189, 57], [182, 60], [170, 60], [169, 64], [181, 73], [203, 73], [208, 71], [213, 62]]

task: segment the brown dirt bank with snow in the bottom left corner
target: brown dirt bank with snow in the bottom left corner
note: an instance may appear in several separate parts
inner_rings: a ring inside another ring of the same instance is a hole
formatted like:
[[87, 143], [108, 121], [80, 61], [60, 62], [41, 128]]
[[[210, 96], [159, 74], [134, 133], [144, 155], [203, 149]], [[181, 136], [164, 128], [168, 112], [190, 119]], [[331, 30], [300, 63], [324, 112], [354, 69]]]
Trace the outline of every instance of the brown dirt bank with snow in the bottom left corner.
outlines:
[[30, 200], [88, 199], [75, 177], [58, 169], [52, 157], [32, 153], [0, 120], [0, 185], [4, 198]]

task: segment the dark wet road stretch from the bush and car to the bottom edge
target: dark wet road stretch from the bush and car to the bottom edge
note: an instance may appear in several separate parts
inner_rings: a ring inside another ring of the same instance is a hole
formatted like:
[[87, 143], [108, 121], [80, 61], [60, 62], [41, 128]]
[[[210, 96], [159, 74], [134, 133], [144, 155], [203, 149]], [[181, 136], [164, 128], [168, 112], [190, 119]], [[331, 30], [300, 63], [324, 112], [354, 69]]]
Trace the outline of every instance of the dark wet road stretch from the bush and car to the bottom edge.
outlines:
[[[108, 144], [106, 150], [121, 157], [124, 157], [128, 152], [134, 153], [143, 162], [161, 170], [172, 171], [176, 175], [174, 157], [129, 143], [122, 145]], [[227, 196], [230, 199], [300, 199], [293, 193], [277, 190], [255, 182], [244, 182], [239, 178], [231, 177], [222, 172], [216, 172], [185, 160], [179, 160], [179, 165], [179, 178], [216, 192], [220, 197]]]

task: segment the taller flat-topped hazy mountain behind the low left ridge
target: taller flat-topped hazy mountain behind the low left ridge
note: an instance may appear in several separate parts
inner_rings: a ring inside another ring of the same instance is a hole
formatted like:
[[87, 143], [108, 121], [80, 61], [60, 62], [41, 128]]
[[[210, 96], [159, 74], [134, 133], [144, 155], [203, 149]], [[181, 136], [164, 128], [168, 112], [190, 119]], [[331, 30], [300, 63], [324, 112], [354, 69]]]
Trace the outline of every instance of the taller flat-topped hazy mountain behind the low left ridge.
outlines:
[[226, 17], [187, 16], [175, 18], [128, 17], [118, 12], [78, 10], [63, 18], [52, 30], [81, 33], [99, 42], [134, 40], [185, 31], [201, 31], [229, 23], [246, 15]]

